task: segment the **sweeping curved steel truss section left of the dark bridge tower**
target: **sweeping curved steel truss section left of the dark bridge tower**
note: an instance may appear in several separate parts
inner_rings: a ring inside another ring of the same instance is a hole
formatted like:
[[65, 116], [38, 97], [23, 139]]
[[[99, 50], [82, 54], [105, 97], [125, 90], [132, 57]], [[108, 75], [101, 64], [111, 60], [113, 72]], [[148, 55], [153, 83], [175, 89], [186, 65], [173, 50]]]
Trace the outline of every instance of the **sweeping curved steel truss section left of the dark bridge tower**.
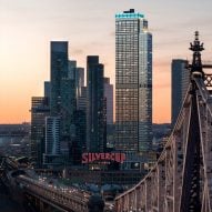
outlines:
[[180, 201], [176, 193], [181, 193], [183, 152], [191, 115], [190, 99], [188, 94], [175, 127], [150, 172], [135, 186], [115, 198], [117, 212], [176, 211], [174, 208]]

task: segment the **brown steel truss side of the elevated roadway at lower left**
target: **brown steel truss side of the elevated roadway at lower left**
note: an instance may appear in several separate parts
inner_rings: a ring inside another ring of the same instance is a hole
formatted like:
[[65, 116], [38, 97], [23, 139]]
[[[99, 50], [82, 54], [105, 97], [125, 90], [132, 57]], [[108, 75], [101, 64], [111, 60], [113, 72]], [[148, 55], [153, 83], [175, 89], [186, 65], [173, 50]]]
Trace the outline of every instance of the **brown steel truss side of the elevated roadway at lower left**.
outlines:
[[19, 175], [16, 182], [24, 190], [28, 201], [33, 202], [40, 212], [50, 210], [50, 206], [63, 212], [89, 211], [88, 203], [91, 194], [88, 192], [58, 189], [24, 175]]

